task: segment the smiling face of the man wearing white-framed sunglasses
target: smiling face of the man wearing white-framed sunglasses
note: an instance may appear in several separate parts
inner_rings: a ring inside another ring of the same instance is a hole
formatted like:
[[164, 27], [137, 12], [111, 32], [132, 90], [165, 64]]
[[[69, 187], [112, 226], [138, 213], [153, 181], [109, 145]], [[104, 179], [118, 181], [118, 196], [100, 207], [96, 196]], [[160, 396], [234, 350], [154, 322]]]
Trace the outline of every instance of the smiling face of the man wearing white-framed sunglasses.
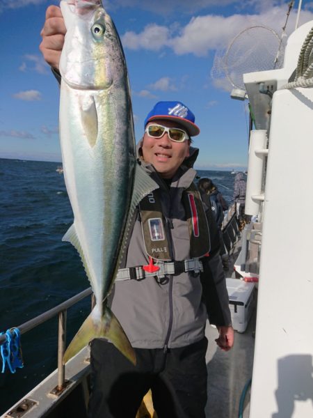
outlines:
[[[175, 121], [156, 119], [147, 124], [158, 123], [166, 127], [178, 127], [185, 130]], [[143, 160], [150, 162], [163, 178], [172, 178], [184, 159], [189, 156], [189, 141], [173, 142], [164, 132], [161, 138], [152, 138], [147, 133], [143, 137]]]

